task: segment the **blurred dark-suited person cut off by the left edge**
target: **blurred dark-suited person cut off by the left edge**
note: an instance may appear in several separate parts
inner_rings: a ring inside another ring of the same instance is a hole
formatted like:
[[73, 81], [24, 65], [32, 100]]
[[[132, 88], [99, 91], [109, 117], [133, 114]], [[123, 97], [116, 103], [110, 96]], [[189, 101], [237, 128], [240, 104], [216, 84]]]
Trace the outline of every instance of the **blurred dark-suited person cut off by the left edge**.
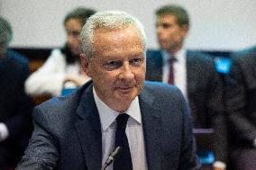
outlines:
[[28, 60], [8, 48], [11, 25], [0, 17], [0, 169], [14, 166], [32, 131], [32, 102], [24, 94]]

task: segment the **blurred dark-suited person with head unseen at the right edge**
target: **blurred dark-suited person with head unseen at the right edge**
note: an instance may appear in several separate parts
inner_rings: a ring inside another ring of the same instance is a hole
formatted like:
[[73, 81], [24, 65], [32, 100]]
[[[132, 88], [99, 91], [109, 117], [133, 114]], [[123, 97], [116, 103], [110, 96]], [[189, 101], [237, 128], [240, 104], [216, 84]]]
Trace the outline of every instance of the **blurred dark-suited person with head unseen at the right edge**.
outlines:
[[256, 46], [234, 52], [226, 77], [233, 169], [256, 169]]

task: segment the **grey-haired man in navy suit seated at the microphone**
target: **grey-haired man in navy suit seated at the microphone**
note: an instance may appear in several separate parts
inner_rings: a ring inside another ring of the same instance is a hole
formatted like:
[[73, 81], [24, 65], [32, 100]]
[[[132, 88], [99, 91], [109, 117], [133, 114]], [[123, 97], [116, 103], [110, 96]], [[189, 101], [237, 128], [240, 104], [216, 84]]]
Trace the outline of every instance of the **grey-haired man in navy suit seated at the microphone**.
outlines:
[[32, 139], [16, 169], [198, 169], [183, 95], [144, 82], [141, 22], [96, 13], [81, 36], [81, 66], [92, 81], [34, 109]]

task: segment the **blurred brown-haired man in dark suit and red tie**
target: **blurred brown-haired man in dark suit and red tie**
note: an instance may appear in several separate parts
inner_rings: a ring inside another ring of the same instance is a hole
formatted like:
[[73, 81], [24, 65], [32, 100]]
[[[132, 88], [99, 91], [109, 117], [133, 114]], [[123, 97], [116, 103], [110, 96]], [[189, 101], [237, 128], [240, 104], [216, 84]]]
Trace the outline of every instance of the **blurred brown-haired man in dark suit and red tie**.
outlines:
[[147, 52], [146, 79], [177, 85], [187, 97], [194, 127], [214, 129], [215, 168], [225, 167], [226, 132], [223, 85], [212, 58], [184, 47], [189, 29], [186, 10], [166, 5], [156, 12], [160, 50]]

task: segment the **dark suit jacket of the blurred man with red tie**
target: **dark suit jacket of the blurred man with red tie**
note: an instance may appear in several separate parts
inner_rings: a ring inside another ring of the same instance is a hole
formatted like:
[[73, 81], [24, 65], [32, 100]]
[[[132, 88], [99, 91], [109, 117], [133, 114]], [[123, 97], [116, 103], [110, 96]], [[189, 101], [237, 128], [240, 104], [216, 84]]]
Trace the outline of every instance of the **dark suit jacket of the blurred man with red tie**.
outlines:
[[[162, 81], [163, 59], [160, 50], [147, 52], [146, 79]], [[213, 128], [215, 159], [226, 162], [227, 138], [224, 117], [223, 84], [208, 56], [187, 51], [187, 97], [194, 118], [194, 127]]]

